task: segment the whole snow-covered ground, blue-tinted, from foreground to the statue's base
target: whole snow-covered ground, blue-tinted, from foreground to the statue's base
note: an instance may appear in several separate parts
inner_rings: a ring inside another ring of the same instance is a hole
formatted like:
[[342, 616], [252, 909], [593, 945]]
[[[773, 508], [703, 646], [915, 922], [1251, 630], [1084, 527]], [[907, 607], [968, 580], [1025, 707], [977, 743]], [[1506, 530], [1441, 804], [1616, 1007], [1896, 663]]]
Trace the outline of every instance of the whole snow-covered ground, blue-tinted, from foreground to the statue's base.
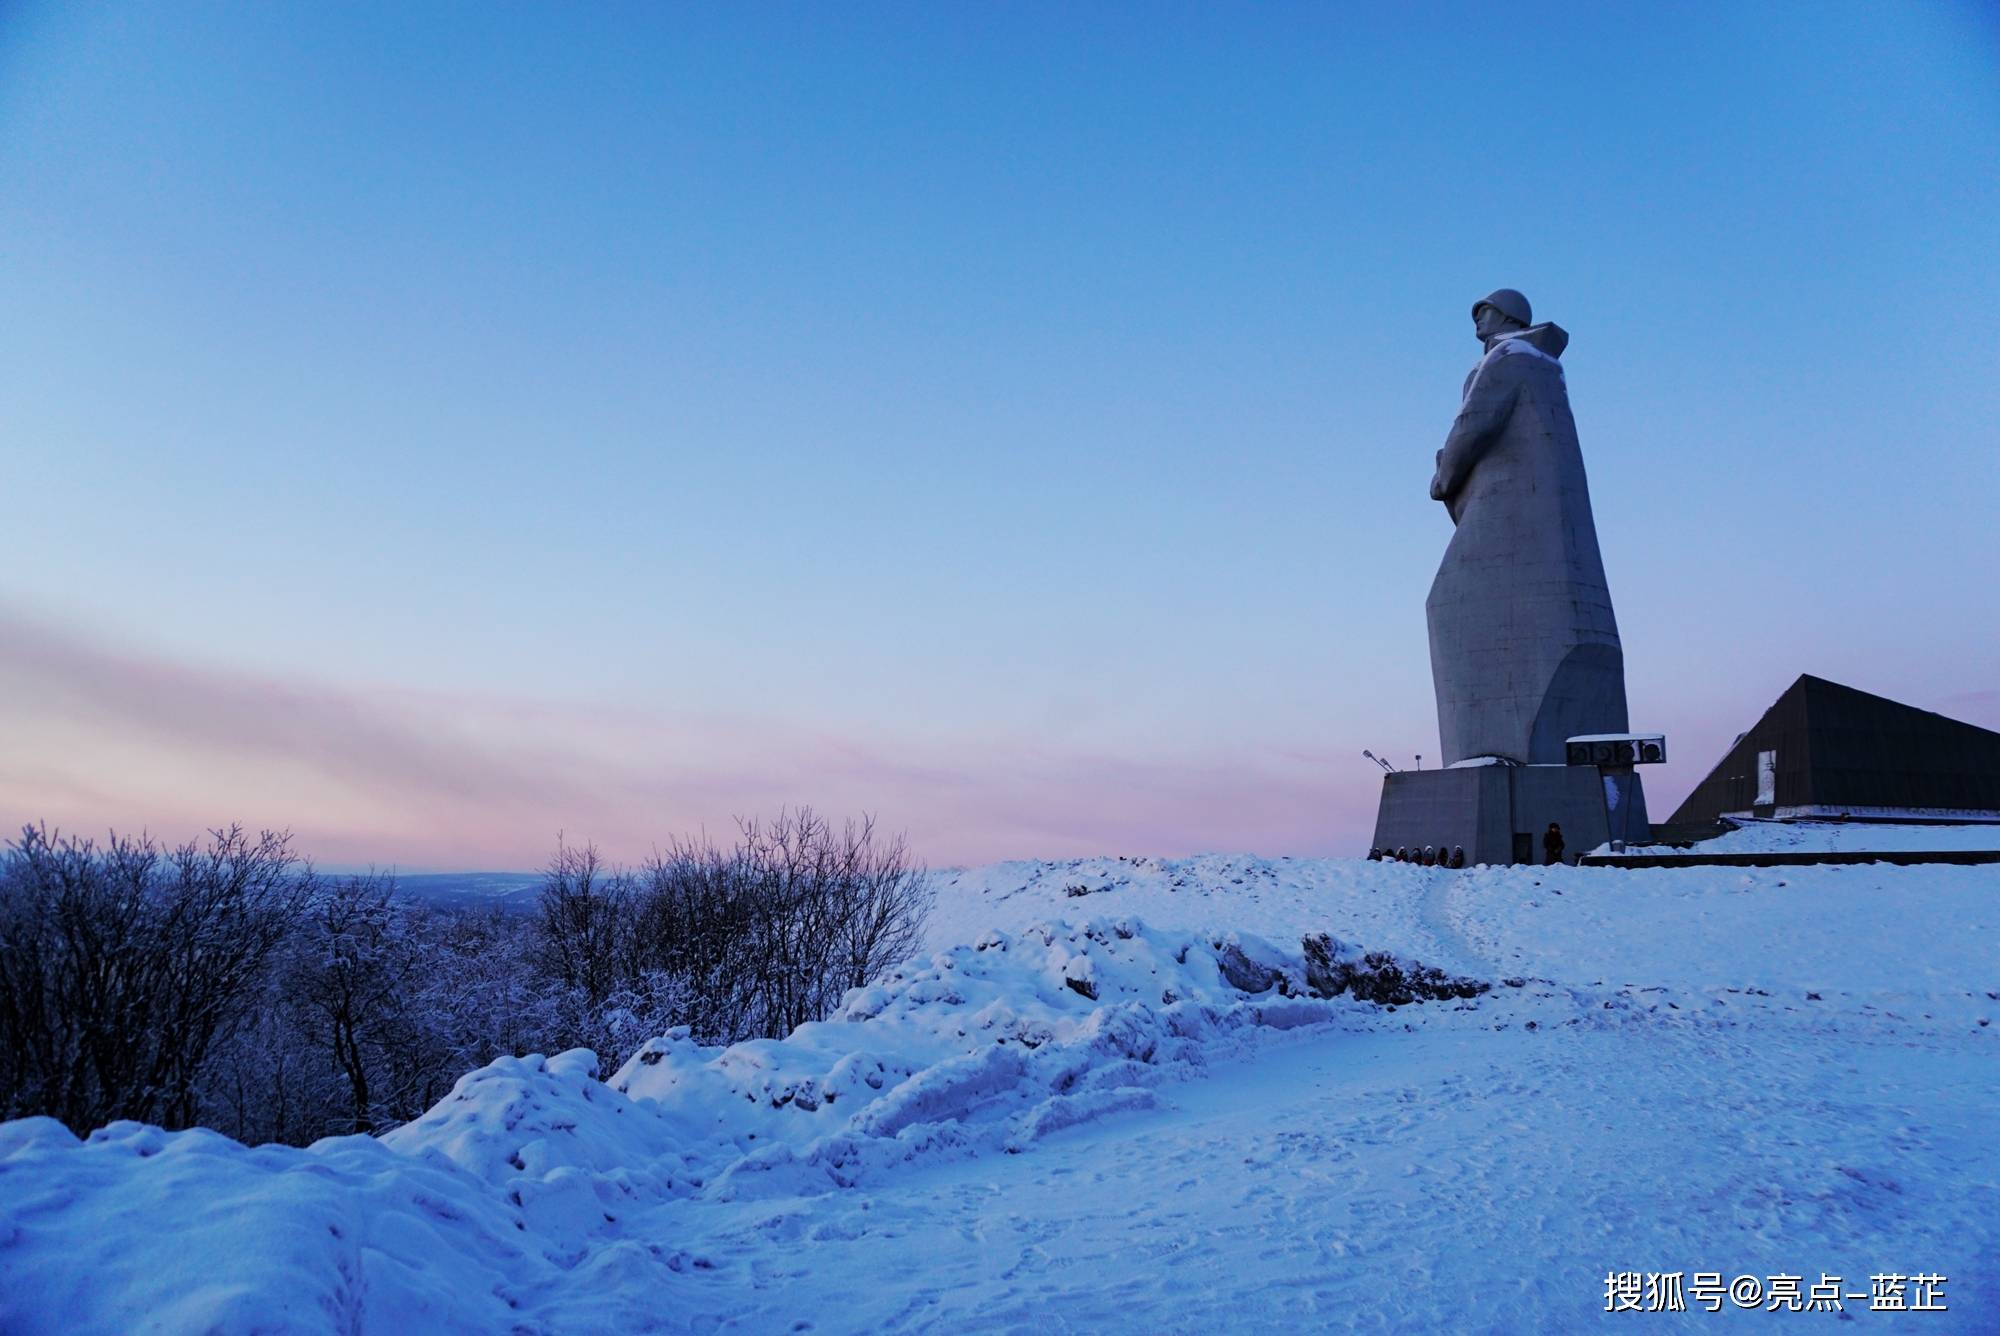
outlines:
[[[308, 1150], [4, 1124], [0, 1330], [1836, 1320], [1710, 1314], [1696, 1272], [1942, 1274], [1944, 1312], [1842, 1308], [2000, 1330], [2000, 868], [1102, 858], [938, 890], [932, 956], [784, 1042], [496, 1062]], [[1316, 932], [1492, 990], [1302, 996]], [[1692, 1312], [1606, 1314], [1606, 1272], [1680, 1272]]]

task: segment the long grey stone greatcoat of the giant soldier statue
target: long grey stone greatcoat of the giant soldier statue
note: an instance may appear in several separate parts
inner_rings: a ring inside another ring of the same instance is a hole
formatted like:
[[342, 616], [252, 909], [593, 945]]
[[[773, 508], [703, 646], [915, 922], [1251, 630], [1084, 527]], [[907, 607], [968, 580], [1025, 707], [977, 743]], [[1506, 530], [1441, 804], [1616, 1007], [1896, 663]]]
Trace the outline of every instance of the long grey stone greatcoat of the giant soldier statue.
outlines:
[[1554, 324], [1494, 340], [1438, 452], [1430, 496], [1458, 526], [1424, 602], [1444, 764], [1562, 764], [1564, 738], [1626, 732], [1568, 342]]

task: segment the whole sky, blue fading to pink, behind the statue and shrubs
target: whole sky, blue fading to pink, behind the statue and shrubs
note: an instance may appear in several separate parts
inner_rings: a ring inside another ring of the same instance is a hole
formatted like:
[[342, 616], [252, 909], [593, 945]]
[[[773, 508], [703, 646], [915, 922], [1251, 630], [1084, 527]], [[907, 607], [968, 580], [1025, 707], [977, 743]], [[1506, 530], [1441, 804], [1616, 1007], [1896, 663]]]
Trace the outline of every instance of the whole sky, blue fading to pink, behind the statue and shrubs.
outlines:
[[0, 178], [8, 820], [1354, 852], [1500, 284], [1656, 808], [2000, 726], [1980, 6], [14, 4]]

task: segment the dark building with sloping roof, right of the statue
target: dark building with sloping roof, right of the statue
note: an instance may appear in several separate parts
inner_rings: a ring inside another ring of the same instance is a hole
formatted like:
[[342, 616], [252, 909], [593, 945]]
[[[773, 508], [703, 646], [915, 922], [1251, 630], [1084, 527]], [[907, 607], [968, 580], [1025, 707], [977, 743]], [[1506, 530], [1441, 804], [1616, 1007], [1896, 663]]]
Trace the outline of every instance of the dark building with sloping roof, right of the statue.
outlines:
[[1718, 816], [2000, 820], [2000, 732], [1808, 674], [1668, 824]]

